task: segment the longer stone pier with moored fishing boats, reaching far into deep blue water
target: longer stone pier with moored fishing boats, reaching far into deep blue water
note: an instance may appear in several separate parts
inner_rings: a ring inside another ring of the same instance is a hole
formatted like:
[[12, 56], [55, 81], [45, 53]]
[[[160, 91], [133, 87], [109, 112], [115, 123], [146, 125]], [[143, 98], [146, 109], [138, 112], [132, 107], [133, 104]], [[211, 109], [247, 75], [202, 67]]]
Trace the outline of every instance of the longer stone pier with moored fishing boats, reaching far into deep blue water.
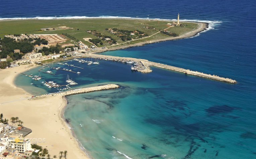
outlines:
[[89, 57], [89, 58], [99, 58], [99, 59], [103, 59], [103, 60], [119, 61], [119, 62], [134, 61], [134, 62], [139, 63], [140, 67], [137, 71], [142, 72], [142, 73], [152, 72], [152, 70], [150, 69], [150, 66], [154, 66], [154, 67], [158, 67], [158, 68], [181, 72], [186, 75], [193, 75], [193, 76], [203, 77], [203, 78], [212, 79], [212, 80], [224, 81], [224, 82], [228, 82], [228, 83], [237, 83], [236, 80], [232, 80], [229, 78], [219, 77], [217, 75], [210, 75], [210, 74], [205, 74], [205, 73], [201, 73], [201, 72], [197, 72], [197, 71], [191, 71], [191, 70], [182, 69], [182, 68], [178, 68], [178, 67], [174, 67], [174, 66], [155, 63], [155, 62], [151, 62], [151, 61], [144, 60], [144, 59], [124, 58], [124, 57], [98, 55], [98, 54], [82, 54], [82, 56]]

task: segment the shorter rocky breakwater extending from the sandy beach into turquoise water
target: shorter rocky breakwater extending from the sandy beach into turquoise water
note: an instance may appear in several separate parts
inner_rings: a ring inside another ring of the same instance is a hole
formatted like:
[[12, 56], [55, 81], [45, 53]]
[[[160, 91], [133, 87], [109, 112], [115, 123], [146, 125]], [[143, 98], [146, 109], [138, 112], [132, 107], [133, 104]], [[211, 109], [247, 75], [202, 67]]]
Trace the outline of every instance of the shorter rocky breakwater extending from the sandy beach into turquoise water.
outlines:
[[73, 95], [73, 94], [79, 94], [79, 93], [88, 93], [93, 91], [99, 91], [99, 90], [107, 90], [107, 89], [114, 89], [119, 88], [119, 85], [117, 84], [107, 84], [107, 85], [99, 85], [94, 87], [88, 87], [88, 88], [80, 88], [80, 89], [73, 89], [65, 92], [59, 92], [59, 93], [53, 93], [53, 94], [45, 94], [45, 95], [39, 95], [32, 97], [31, 99], [35, 98], [42, 98], [42, 97], [50, 97], [50, 96], [66, 96], [66, 95]]

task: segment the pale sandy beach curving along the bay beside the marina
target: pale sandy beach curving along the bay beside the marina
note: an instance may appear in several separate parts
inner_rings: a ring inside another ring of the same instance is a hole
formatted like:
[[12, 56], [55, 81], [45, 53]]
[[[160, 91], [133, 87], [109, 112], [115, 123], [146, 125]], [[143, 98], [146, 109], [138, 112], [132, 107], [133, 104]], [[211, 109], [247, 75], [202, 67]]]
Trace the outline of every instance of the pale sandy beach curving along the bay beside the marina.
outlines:
[[[47, 148], [51, 156], [59, 156], [60, 151], [68, 151], [68, 158], [86, 159], [86, 153], [78, 146], [76, 138], [62, 118], [67, 102], [64, 97], [28, 100], [32, 96], [14, 85], [18, 73], [36, 67], [34, 64], [0, 70], [0, 112], [4, 118], [18, 116], [25, 127], [32, 129], [26, 138]], [[16, 73], [15, 73], [16, 72]], [[11, 123], [11, 122], [9, 122]]]

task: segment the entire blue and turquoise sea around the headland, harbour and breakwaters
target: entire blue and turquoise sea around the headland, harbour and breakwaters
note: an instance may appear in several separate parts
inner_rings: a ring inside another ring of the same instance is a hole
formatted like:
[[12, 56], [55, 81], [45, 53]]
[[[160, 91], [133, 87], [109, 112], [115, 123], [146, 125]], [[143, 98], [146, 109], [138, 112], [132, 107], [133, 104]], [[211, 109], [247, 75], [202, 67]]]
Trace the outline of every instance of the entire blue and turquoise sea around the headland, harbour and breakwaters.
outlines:
[[[219, 75], [237, 80], [238, 84], [157, 68], [150, 74], [132, 73], [126, 64], [101, 61], [100, 66], [77, 70], [81, 75], [71, 75], [80, 83], [78, 87], [118, 83], [121, 88], [69, 96], [65, 117], [71, 120], [78, 139], [94, 158], [125, 158], [117, 151], [133, 159], [155, 155], [175, 159], [256, 158], [254, 1], [2, 0], [0, 18], [176, 19], [177, 13], [181, 19], [208, 21], [212, 28], [189, 39], [103, 54]], [[36, 69], [31, 73], [38, 74]], [[54, 80], [65, 81], [66, 74], [62, 73], [58, 71]], [[53, 80], [49, 75], [42, 77]], [[16, 84], [30, 92], [33, 88], [33, 94], [55, 91], [40, 82], [30, 85], [31, 81], [22, 80], [25, 78], [18, 77]]]

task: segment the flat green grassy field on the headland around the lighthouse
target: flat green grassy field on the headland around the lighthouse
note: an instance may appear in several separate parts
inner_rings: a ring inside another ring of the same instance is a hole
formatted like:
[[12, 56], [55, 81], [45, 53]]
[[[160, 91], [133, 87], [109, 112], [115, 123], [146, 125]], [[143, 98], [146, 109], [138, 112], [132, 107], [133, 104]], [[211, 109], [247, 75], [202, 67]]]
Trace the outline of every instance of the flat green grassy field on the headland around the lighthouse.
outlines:
[[[13, 34], [62, 34], [67, 33], [76, 39], [84, 42], [86, 45], [90, 46], [91, 43], [83, 40], [83, 38], [97, 38], [92, 34], [87, 33], [87, 30], [96, 30], [103, 35], [111, 36], [114, 38], [117, 43], [123, 43], [123, 41], [116, 35], [106, 31], [106, 28], [117, 28], [123, 30], [140, 30], [145, 32], [148, 35], [157, 33], [159, 30], [168, 28], [167, 21], [157, 21], [157, 20], [138, 20], [138, 19], [54, 19], [54, 20], [12, 20], [12, 21], [0, 21], [0, 37], [3, 38], [4, 35], [13, 35]], [[195, 23], [183, 23], [186, 24], [186, 27], [171, 27], [168, 31], [177, 33], [179, 35], [192, 31], [197, 28], [198, 24]], [[40, 31], [41, 28], [49, 27], [59, 27], [67, 26], [74, 29], [68, 30], [53, 30], [53, 31]], [[153, 29], [146, 29], [146, 27], [154, 27]], [[145, 40], [157, 40], [168, 37], [165, 34], [158, 33], [152, 37], [143, 39]], [[105, 41], [102, 41], [102, 46], [109, 46]], [[138, 41], [139, 42], [139, 41]], [[138, 43], [132, 42], [130, 44]], [[140, 41], [141, 42], [141, 41]], [[68, 44], [72, 42], [71, 39], [68, 39], [67, 42], [63, 44]], [[125, 44], [126, 45], [126, 44]]]

